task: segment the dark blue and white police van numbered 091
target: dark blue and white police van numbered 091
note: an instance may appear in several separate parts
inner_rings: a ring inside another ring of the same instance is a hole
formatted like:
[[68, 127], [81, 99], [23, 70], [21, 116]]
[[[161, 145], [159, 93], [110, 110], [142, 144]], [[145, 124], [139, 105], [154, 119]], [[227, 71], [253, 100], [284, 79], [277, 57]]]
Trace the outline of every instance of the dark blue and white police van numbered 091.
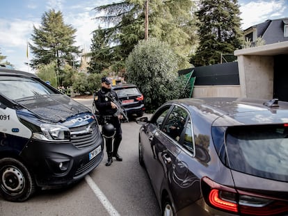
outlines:
[[89, 108], [34, 74], [0, 69], [0, 194], [25, 201], [38, 188], [79, 181], [104, 157]]

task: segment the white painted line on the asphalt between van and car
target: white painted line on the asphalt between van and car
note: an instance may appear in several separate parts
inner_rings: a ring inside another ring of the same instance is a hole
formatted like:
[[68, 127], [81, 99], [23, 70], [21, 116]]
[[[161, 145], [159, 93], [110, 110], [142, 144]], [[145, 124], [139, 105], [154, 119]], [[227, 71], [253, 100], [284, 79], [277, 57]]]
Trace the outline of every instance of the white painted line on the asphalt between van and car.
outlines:
[[115, 210], [115, 208], [112, 206], [112, 204], [110, 203], [110, 201], [105, 197], [105, 195], [103, 194], [103, 192], [98, 188], [98, 186], [96, 185], [96, 183], [93, 181], [93, 179], [89, 176], [86, 175], [85, 176], [85, 180], [88, 183], [88, 185], [90, 186], [90, 188], [93, 190], [93, 192], [95, 193], [96, 197], [99, 199], [99, 201], [102, 203], [102, 205], [104, 206], [104, 208], [106, 208], [106, 210], [108, 211], [109, 215], [113, 215], [113, 216], [120, 216], [120, 214], [118, 213], [117, 210]]

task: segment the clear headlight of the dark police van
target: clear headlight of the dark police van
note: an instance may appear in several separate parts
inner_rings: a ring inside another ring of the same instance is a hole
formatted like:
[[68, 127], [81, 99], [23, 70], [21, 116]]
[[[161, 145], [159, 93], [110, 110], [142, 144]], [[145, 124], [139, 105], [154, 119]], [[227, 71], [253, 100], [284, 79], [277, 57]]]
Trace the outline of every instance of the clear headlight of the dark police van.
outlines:
[[56, 124], [41, 124], [42, 133], [33, 133], [33, 138], [47, 141], [70, 141], [69, 128]]

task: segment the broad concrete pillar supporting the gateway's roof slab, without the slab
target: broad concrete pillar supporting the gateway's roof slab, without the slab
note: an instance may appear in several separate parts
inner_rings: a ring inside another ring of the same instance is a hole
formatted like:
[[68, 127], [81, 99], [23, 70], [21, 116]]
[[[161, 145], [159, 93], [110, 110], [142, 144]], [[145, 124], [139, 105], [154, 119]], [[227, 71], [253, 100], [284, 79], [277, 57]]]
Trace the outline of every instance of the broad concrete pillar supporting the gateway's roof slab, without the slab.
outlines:
[[273, 56], [238, 56], [241, 97], [273, 98]]

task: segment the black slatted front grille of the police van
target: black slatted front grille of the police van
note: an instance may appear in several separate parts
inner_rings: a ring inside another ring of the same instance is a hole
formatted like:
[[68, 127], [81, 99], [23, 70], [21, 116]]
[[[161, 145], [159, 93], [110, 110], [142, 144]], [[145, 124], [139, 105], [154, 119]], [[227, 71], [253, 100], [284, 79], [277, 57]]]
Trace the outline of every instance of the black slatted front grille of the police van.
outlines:
[[91, 147], [95, 144], [95, 140], [98, 139], [97, 136], [99, 135], [99, 133], [97, 133], [96, 124], [90, 125], [91, 130], [89, 132], [73, 134], [73, 132], [85, 131], [87, 127], [88, 125], [79, 128], [70, 128], [70, 131], [72, 132], [71, 142], [78, 149], [85, 149], [87, 147]]

